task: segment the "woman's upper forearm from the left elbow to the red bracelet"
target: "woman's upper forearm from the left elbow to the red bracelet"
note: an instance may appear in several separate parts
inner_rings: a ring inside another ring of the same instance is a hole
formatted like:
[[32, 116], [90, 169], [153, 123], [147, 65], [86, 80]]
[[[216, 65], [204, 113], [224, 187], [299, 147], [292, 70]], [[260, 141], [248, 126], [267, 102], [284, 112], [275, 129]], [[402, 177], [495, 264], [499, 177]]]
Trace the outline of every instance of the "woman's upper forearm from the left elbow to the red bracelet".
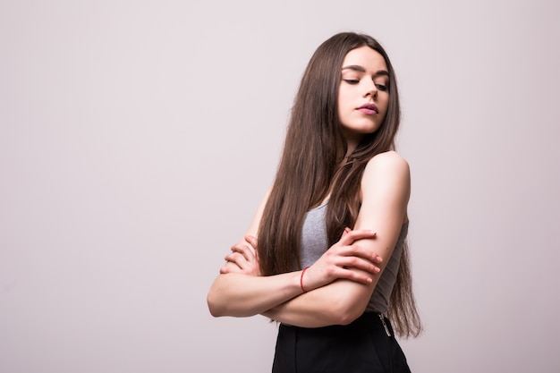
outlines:
[[300, 276], [301, 271], [276, 276], [220, 275], [208, 292], [208, 309], [216, 317], [263, 313], [300, 295]]

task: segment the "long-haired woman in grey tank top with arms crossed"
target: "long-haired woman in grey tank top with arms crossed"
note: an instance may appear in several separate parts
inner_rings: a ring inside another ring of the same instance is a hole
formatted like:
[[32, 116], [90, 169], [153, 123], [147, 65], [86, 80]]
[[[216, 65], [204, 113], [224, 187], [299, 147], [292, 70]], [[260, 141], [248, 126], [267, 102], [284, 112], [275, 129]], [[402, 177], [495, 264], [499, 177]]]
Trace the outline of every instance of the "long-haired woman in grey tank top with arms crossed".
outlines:
[[318, 47], [276, 180], [208, 292], [214, 316], [281, 323], [273, 372], [410, 371], [389, 322], [420, 334], [399, 121], [395, 72], [374, 38], [346, 32]]

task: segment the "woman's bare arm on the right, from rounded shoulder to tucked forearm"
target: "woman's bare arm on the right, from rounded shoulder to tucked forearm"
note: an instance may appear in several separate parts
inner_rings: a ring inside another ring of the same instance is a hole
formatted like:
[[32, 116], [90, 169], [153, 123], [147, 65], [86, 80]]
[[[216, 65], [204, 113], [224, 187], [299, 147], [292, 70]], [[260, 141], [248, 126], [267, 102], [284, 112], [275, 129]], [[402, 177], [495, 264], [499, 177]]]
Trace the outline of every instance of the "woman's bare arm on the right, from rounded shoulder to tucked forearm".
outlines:
[[[361, 193], [354, 229], [375, 228], [378, 235], [357, 243], [381, 256], [383, 270], [398, 240], [410, 196], [410, 170], [403, 157], [387, 152], [371, 159], [362, 177]], [[312, 270], [310, 267], [308, 271]], [[306, 272], [304, 280], [307, 276]], [[295, 326], [348, 324], [366, 309], [378, 277], [373, 276], [370, 284], [340, 279], [268, 309], [263, 315]]]

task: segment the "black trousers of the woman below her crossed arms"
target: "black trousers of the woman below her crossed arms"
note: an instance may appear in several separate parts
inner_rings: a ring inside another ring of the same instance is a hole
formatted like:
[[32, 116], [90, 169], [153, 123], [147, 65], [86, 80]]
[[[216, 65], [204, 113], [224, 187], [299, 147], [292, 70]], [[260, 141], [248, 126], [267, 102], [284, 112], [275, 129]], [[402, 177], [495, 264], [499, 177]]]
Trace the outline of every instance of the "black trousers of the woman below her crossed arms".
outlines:
[[[347, 326], [280, 325], [273, 373], [410, 373], [393, 327], [367, 312]], [[391, 336], [387, 335], [388, 334]]]

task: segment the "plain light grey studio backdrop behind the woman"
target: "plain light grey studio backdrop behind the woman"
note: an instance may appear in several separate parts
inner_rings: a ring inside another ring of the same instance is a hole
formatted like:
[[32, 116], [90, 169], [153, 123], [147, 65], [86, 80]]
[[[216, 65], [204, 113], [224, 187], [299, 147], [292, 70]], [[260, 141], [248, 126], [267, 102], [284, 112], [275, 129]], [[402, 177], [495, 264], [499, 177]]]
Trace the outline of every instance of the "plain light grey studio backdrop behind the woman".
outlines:
[[266, 372], [208, 287], [335, 32], [386, 47], [412, 167], [415, 372], [560, 370], [560, 5], [0, 2], [0, 371]]

